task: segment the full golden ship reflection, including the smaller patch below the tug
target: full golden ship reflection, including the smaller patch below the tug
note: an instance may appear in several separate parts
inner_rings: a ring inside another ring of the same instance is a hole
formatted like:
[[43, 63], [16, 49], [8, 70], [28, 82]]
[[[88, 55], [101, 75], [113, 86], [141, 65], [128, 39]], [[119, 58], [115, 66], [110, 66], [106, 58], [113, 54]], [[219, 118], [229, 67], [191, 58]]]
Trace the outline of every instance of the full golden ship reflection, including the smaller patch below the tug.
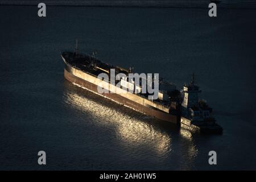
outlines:
[[[172, 155], [172, 134], [168, 129], [154, 125], [154, 122], [160, 121], [97, 96], [77, 85], [69, 84], [64, 90], [63, 97], [69, 109], [82, 112], [89, 117], [85, 122], [90, 121], [90, 125], [113, 130], [119, 145], [128, 146], [131, 150], [136, 147], [145, 148], [152, 152], [151, 155], [162, 156], [164, 159]], [[74, 113], [77, 113], [76, 111]], [[182, 165], [185, 165], [182, 168], [189, 168], [197, 155], [192, 134], [185, 129], [179, 131], [174, 129], [173, 132], [174, 137], [180, 140], [176, 144], [175, 152], [182, 154], [179, 155], [180, 160], [183, 161]]]

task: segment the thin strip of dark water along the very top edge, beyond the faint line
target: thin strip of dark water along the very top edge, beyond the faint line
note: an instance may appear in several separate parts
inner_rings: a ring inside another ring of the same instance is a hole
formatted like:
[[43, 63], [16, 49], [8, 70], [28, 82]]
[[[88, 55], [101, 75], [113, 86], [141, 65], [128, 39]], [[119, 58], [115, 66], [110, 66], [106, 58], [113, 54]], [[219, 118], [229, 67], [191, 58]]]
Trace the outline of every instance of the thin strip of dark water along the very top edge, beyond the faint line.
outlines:
[[[46, 5], [67, 6], [123, 6], [123, 7], [185, 7], [207, 8], [210, 0], [44, 0]], [[0, 0], [0, 5], [38, 5], [39, 1]], [[221, 8], [256, 9], [254, 0], [221, 0]]]

